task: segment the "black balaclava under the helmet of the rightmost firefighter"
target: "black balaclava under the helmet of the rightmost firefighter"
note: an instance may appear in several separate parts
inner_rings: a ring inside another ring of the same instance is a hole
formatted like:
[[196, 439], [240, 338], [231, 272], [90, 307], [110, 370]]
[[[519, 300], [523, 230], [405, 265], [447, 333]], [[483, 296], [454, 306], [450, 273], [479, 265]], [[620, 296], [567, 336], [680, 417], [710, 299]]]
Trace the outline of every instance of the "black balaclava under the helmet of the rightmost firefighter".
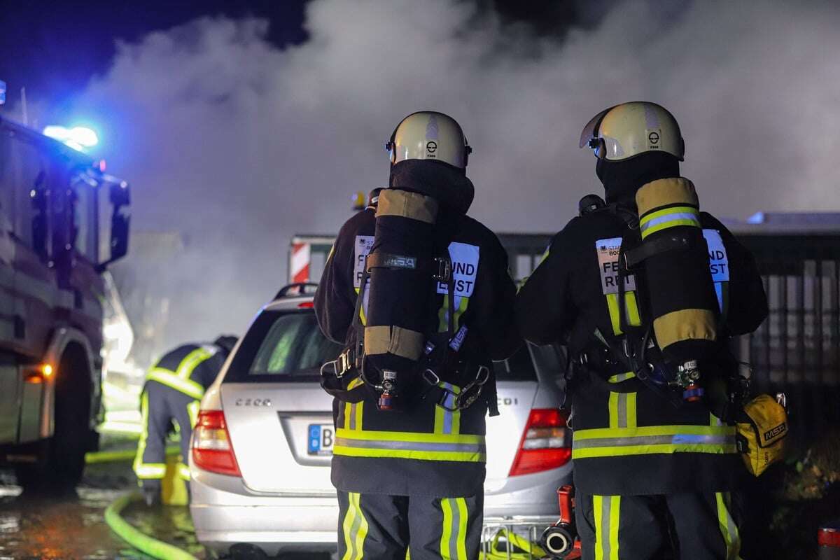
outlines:
[[644, 152], [628, 160], [598, 160], [595, 174], [604, 185], [607, 204], [635, 206], [636, 191], [643, 185], [680, 176], [680, 160], [667, 152]]

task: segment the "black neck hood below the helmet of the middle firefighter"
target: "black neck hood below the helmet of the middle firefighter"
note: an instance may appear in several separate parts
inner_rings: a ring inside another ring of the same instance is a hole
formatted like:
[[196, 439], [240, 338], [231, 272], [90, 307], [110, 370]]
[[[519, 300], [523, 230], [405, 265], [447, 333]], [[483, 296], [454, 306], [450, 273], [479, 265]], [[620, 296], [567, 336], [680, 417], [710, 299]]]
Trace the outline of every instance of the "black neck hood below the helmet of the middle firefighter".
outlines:
[[388, 186], [433, 197], [447, 213], [470, 210], [475, 187], [465, 171], [442, 161], [405, 160], [391, 165]]

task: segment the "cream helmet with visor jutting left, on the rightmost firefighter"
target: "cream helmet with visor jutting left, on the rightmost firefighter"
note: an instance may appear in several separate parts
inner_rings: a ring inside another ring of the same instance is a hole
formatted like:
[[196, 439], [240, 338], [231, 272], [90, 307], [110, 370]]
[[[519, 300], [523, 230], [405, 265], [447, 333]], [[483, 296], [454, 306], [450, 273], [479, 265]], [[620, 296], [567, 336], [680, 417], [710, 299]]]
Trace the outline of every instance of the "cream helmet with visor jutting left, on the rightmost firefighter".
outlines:
[[622, 103], [591, 118], [580, 133], [580, 147], [595, 150], [599, 160], [627, 160], [646, 152], [666, 152], [682, 161], [685, 143], [680, 125], [656, 103]]

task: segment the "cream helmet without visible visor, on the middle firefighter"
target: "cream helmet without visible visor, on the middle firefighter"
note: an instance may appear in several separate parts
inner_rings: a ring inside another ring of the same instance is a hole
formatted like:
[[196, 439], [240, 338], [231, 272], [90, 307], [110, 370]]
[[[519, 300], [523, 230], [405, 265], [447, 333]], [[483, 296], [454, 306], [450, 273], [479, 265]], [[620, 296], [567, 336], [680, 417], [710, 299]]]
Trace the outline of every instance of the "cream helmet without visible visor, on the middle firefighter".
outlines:
[[454, 118], [437, 111], [412, 113], [396, 125], [385, 144], [391, 165], [405, 160], [437, 160], [465, 169], [472, 153]]

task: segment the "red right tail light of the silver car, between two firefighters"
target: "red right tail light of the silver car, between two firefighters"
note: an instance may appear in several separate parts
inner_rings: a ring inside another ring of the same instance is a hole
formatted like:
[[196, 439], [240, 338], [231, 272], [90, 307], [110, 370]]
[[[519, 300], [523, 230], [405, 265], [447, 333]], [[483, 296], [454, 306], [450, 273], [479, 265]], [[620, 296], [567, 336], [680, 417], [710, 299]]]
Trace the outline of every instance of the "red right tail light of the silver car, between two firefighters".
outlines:
[[571, 432], [566, 418], [557, 408], [535, 408], [513, 459], [510, 476], [538, 473], [569, 463], [572, 456]]

